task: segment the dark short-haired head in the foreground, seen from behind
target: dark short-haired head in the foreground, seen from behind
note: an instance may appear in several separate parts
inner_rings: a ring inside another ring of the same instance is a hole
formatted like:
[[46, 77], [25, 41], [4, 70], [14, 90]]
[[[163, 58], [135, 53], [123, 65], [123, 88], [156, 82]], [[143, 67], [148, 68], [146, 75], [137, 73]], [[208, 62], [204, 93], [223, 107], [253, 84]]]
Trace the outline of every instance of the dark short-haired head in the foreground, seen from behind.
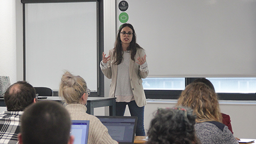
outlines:
[[22, 144], [67, 144], [70, 137], [71, 120], [68, 111], [59, 102], [40, 101], [29, 106], [21, 117]]

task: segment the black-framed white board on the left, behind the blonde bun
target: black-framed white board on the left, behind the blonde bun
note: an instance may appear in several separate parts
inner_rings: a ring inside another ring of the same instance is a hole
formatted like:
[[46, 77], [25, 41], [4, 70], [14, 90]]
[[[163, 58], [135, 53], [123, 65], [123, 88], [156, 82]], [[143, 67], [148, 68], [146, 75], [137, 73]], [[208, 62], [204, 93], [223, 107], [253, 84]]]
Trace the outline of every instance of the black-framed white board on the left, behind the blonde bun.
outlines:
[[68, 70], [97, 91], [97, 3], [25, 6], [26, 81], [59, 90]]

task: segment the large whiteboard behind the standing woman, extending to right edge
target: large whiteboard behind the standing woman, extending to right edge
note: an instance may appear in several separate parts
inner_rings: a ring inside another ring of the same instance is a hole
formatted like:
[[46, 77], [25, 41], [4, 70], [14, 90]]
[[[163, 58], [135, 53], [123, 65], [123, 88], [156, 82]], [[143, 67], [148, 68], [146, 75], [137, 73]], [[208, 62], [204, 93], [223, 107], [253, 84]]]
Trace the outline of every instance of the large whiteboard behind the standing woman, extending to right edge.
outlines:
[[256, 0], [119, 2], [116, 27], [125, 12], [149, 77], [256, 77]]

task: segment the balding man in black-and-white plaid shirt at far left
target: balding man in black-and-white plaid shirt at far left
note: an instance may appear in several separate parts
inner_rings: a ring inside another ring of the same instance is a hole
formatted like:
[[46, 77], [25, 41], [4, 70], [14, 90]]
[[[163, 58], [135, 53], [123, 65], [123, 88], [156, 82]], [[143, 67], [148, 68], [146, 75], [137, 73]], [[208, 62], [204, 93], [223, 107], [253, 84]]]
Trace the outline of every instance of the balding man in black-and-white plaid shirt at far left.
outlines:
[[4, 94], [7, 111], [0, 114], [0, 143], [17, 143], [23, 110], [36, 102], [36, 91], [25, 81], [12, 84]]

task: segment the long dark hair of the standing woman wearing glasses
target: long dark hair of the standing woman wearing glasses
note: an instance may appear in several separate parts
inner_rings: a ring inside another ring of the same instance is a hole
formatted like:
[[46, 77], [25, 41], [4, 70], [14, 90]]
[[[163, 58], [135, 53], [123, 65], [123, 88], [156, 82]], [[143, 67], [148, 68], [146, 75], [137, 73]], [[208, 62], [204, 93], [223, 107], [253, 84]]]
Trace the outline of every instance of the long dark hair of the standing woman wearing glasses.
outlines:
[[115, 48], [114, 48], [114, 57], [116, 57], [115, 65], [119, 65], [123, 61], [123, 49], [122, 49], [122, 41], [121, 41], [120, 33], [124, 27], [131, 28], [132, 33], [133, 33], [132, 41], [131, 41], [129, 47], [127, 47], [127, 51], [131, 51], [131, 59], [135, 61], [134, 57], [137, 52], [137, 47], [142, 49], [142, 47], [140, 47], [140, 45], [136, 43], [136, 34], [135, 34], [133, 26], [130, 23], [124, 23], [119, 28], [118, 34], [116, 37]]

